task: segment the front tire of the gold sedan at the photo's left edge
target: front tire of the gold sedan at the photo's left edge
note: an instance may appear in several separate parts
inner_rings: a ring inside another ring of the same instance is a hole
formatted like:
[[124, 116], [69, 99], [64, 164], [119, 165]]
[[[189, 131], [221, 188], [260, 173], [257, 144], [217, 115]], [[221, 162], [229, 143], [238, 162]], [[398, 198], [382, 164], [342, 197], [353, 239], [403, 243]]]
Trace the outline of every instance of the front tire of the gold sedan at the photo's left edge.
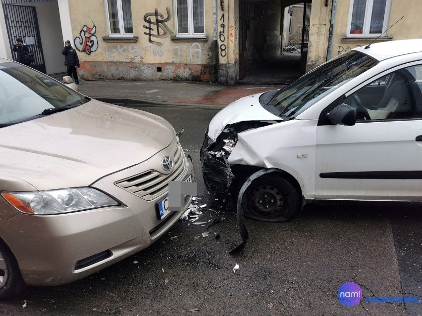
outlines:
[[26, 287], [15, 257], [7, 245], [0, 240], [0, 299], [17, 296]]

